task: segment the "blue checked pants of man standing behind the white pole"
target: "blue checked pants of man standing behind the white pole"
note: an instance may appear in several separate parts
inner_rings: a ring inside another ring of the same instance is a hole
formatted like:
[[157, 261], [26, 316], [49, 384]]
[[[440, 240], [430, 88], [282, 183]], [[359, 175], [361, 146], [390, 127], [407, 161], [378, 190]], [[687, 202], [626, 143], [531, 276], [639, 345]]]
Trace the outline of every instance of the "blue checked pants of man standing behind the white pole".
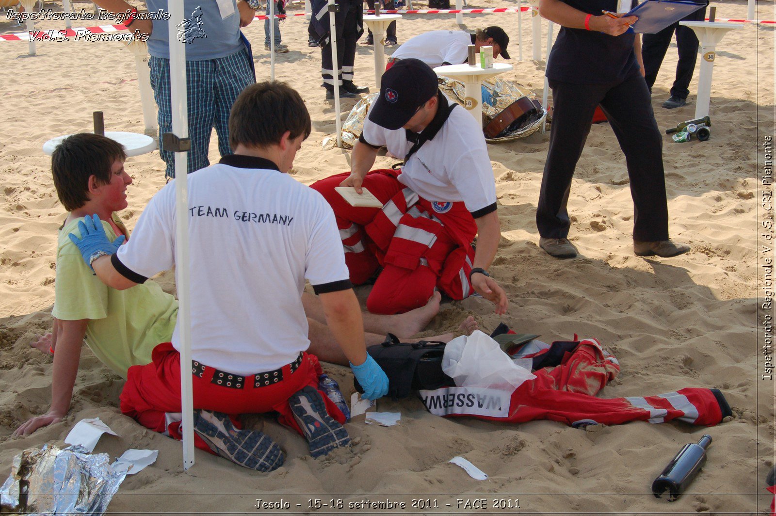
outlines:
[[[172, 131], [170, 100], [170, 60], [151, 57], [151, 88], [159, 108], [159, 154], [165, 160], [165, 175], [175, 177], [175, 154], [165, 150], [161, 135]], [[192, 148], [188, 153], [189, 173], [210, 164], [207, 158], [213, 127], [218, 134], [218, 151], [222, 156], [232, 154], [229, 147], [229, 113], [237, 95], [255, 82], [248, 50], [206, 61], [186, 61], [186, 90], [189, 116], [189, 138]]]

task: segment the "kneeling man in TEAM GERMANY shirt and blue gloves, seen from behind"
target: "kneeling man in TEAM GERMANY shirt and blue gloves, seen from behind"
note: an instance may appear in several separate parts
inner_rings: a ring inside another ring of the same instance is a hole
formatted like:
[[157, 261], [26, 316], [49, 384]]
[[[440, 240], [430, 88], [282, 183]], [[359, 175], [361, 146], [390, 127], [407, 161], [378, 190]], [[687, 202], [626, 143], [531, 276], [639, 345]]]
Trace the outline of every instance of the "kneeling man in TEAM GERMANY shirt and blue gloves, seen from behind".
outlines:
[[[388, 380], [366, 353], [331, 209], [285, 173], [310, 134], [300, 95], [282, 83], [251, 85], [234, 103], [229, 129], [234, 154], [189, 178], [194, 431], [199, 448], [272, 471], [282, 465], [281, 449], [262, 432], [235, 428], [235, 414], [279, 412], [314, 457], [349, 442], [345, 417], [317, 390], [306, 353], [306, 279], [365, 397], [383, 396]], [[108, 286], [131, 288], [175, 265], [172, 184], [151, 199], [118, 251], [99, 220], [81, 225], [82, 238], [71, 240]], [[173, 437], [180, 435], [171, 423], [181, 411], [179, 347], [176, 325], [151, 364], [130, 367], [121, 393], [123, 414]]]

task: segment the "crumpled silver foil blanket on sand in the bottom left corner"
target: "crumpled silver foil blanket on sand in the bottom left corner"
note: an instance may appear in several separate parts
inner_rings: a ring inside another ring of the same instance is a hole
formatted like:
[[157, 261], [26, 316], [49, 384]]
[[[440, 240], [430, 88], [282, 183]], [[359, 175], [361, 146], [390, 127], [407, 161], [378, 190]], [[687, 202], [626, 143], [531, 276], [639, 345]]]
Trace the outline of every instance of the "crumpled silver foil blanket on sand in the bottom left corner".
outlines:
[[0, 487], [2, 512], [102, 514], [126, 472], [113, 471], [107, 453], [54, 445], [16, 455], [11, 474]]

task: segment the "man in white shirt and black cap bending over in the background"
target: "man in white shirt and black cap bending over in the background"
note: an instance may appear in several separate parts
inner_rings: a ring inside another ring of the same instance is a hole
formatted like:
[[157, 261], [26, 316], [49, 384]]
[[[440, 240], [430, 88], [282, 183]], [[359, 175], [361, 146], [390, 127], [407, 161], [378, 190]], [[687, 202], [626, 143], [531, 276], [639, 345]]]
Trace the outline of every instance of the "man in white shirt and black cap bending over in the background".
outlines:
[[490, 45], [493, 47], [493, 57], [509, 59], [507, 46], [509, 36], [504, 29], [490, 26], [485, 29], [477, 29], [471, 34], [466, 30], [431, 30], [428, 33], [418, 34], [407, 40], [397, 48], [388, 58], [386, 70], [400, 59], [420, 59], [431, 68], [443, 64], [462, 64], [469, 58], [469, 45], [475, 45], [477, 52], [480, 47]]

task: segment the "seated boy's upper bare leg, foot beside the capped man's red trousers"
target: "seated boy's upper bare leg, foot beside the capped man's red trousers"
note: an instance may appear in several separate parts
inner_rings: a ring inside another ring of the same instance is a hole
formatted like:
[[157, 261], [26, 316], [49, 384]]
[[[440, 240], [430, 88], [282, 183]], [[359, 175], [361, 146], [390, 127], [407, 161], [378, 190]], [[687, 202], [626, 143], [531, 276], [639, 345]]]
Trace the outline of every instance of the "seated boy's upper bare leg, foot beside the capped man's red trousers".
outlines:
[[[398, 313], [397, 315], [377, 315], [375, 313], [362, 312], [364, 320], [364, 331], [385, 336], [392, 333], [399, 338], [410, 338], [412, 335], [423, 331], [423, 328], [431, 322], [431, 319], [439, 313], [439, 301], [442, 296], [435, 292], [428, 298], [425, 306], [410, 310], [407, 313]], [[302, 294], [302, 304], [304, 313], [308, 319], [316, 320], [321, 324], [326, 324], [324, 307], [316, 296], [308, 293]], [[380, 339], [380, 342], [383, 338]], [[379, 344], [379, 343], [378, 343]], [[367, 344], [369, 345], [369, 344]]]

